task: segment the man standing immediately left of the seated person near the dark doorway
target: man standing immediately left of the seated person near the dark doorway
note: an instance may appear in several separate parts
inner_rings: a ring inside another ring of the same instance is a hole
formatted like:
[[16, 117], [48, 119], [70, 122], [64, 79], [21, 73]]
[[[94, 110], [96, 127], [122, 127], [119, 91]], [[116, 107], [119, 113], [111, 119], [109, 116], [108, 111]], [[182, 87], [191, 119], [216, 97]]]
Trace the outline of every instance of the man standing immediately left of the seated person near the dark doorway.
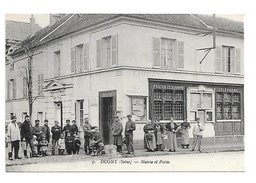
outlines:
[[84, 152], [85, 154], [89, 155], [91, 153], [89, 145], [90, 145], [92, 126], [90, 125], [88, 118], [84, 119], [84, 124], [82, 128], [84, 131]]

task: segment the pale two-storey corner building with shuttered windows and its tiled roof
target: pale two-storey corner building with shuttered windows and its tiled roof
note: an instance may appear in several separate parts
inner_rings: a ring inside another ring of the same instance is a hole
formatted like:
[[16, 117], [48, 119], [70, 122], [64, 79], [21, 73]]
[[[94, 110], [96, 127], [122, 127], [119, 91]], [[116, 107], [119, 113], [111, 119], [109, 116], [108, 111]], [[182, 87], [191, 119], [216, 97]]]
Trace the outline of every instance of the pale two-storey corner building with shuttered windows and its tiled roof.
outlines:
[[[34, 50], [33, 120], [63, 126], [75, 119], [81, 127], [88, 117], [108, 144], [114, 115], [125, 125], [132, 114], [135, 145], [141, 148], [148, 120], [166, 123], [173, 115], [178, 124], [187, 119], [193, 125], [200, 117], [208, 143], [242, 142], [243, 25], [217, 18], [216, 44], [204, 58], [213, 47], [209, 20], [201, 15], [64, 16], [26, 42]], [[27, 57], [20, 49], [12, 58], [6, 63], [6, 119], [16, 114], [22, 121], [28, 113]]]

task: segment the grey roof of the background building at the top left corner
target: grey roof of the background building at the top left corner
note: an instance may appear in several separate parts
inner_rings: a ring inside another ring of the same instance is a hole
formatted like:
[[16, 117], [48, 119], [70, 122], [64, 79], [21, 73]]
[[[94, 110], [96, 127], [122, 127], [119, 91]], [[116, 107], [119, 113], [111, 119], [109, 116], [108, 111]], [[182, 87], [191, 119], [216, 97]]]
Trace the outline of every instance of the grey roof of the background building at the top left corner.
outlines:
[[[12, 20], [5, 21], [5, 38], [22, 41], [30, 34], [30, 23]], [[34, 25], [35, 31], [41, 29], [38, 24]]]

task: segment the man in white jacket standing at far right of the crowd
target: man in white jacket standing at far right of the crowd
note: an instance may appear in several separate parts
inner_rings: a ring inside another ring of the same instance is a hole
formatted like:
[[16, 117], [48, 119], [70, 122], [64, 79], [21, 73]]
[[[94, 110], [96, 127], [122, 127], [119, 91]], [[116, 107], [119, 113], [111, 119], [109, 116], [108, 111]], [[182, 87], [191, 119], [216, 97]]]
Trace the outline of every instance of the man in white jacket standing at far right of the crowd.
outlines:
[[196, 118], [196, 124], [193, 127], [192, 133], [193, 133], [193, 144], [192, 144], [192, 151], [195, 150], [196, 144], [198, 143], [198, 151], [201, 153], [201, 141], [203, 138], [203, 124], [200, 123], [200, 118]]

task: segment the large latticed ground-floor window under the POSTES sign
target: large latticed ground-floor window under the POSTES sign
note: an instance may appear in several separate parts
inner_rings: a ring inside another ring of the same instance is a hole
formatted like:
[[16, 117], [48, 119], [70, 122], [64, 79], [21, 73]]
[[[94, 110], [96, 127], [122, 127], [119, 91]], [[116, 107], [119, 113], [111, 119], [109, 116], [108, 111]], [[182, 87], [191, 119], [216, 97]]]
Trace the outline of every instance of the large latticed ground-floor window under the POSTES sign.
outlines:
[[184, 91], [169, 89], [154, 89], [153, 118], [169, 120], [174, 116], [176, 120], [184, 119]]

